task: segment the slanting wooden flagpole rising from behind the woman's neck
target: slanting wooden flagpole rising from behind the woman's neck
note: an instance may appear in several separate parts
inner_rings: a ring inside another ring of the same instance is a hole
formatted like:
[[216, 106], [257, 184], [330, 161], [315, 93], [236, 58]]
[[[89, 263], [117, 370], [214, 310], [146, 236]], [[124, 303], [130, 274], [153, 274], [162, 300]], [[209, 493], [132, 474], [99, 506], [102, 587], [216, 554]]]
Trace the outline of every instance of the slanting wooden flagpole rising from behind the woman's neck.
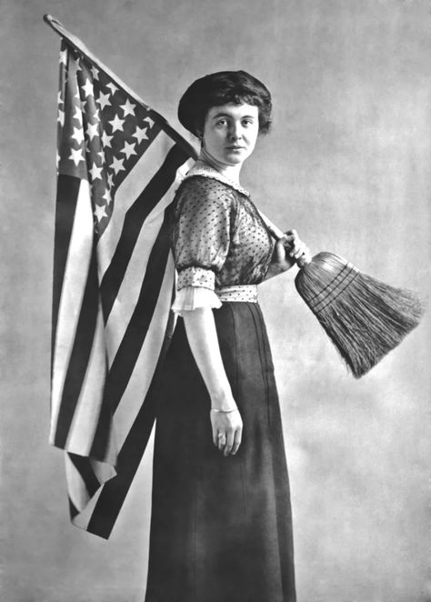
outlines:
[[195, 159], [197, 158], [197, 153], [194, 146], [187, 142], [182, 135], [179, 135], [178, 132], [176, 132], [176, 130], [172, 127], [172, 125], [168, 124], [163, 115], [157, 113], [151, 106], [146, 105], [143, 99], [139, 95], [137, 95], [134, 90], [132, 90], [128, 85], [126, 85], [118, 77], [118, 75], [115, 75], [115, 73], [111, 69], [109, 69], [109, 67], [104, 65], [104, 63], [102, 63], [90, 50], [88, 50], [84, 42], [82, 42], [78, 37], [76, 37], [76, 35], [73, 35], [69, 31], [67, 31], [64, 25], [62, 25], [60, 21], [57, 21], [57, 19], [55, 19], [53, 15], [44, 15], [44, 21], [47, 25], [54, 29], [55, 33], [63, 37], [69, 45], [75, 48], [76, 52], [78, 52], [80, 55], [84, 55], [87, 59], [91, 61], [93, 65], [100, 69], [100, 71], [105, 73], [105, 75], [107, 75], [108, 77], [114, 79], [115, 82], [119, 85], [119, 87], [121, 87], [124, 90], [126, 94], [130, 95], [136, 103], [142, 105], [145, 108], [145, 110], [151, 114], [152, 118], [155, 118], [156, 123], [158, 123], [159, 125], [163, 125], [163, 129], [165, 130], [166, 134], [168, 134], [173, 140], [175, 140], [175, 142], [178, 145], [184, 148], [190, 156], [192, 156]]

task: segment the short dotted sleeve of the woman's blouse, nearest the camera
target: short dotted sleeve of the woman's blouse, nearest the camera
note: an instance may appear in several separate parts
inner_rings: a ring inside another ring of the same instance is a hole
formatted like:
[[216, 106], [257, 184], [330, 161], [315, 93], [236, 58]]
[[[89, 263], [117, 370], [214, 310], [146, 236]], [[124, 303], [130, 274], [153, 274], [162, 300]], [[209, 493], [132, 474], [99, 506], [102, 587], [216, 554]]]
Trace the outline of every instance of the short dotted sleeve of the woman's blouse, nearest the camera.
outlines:
[[234, 199], [209, 178], [185, 182], [175, 209], [173, 240], [178, 291], [196, 286], [214, 292], [229, 250]]

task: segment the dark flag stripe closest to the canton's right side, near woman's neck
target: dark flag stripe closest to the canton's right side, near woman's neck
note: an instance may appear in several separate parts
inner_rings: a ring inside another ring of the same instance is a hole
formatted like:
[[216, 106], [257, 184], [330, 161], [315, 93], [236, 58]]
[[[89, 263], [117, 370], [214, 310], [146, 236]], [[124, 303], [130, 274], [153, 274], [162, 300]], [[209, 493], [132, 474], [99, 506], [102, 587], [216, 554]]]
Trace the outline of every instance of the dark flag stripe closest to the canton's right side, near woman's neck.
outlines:
[[163, 165], [155, 173], [155, 176], [153, 176], [148, 185], [145, 186], [145, 189], [138, 196], [134, 205], [127, 211], [122, 236], [100, 285], [105, 322], [118, 294], [127, 264], [132, 256], [137, 236], [145, 222], [145, 218], [154, 209], [160, 199], [165, 196], [165, 193], [175, 181], [176, 170], [185, 163], [187, 158], [188, 156], [185, 154], [185, 151], [180, 146], [174, 145], [168, 151]]

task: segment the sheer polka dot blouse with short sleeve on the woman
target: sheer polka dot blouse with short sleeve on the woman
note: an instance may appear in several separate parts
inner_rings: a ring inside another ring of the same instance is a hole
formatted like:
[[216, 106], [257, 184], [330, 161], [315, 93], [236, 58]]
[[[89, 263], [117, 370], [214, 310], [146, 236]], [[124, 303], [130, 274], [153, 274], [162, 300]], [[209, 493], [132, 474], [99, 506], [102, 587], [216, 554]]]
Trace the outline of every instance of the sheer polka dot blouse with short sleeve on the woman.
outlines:
[[211, 172], [187, 176], [176, 192], [172, 246], [177, 290], [256, 285], [271, 262], [274, 242], [248, 193], [216, 178]]

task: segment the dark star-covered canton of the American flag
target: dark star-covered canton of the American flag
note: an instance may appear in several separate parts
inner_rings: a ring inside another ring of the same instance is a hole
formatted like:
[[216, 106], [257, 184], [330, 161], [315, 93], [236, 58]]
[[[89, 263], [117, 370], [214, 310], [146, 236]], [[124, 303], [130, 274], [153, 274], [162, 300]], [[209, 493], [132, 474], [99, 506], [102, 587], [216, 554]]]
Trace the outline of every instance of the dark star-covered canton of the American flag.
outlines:
[[91, 184], [95, 230], [103, 234], [113, 212], [115, 190], [160, 132], [143, 105], [112, 79], [73, 53], [60, 54], [59, 155], [62, 174]]

